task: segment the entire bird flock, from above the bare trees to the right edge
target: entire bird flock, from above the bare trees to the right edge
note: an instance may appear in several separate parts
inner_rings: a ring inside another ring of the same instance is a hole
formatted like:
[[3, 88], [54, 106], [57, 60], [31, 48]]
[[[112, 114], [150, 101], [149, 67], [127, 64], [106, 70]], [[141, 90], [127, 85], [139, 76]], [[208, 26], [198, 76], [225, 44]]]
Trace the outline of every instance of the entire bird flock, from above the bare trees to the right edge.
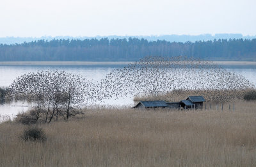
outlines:
[[[186, 56], [147, 56], [127, 67], [113, 69], [99, 82], [87, 81], [65, 72], [45, 71], [25, 74], [12, 85], [20, 92], [31, 90], [29, 86], [36, 87], [38, 94], [46, 92], [49, 98], [58, 91], [68, 92], [68, 89], [73, 88], [74, 97], [77, 96], [76, 102], [83, 100], [88, 106], [106, 99], [156, 97], [174, 91], [212, 92], [253, 88], [253, 84], [245, 77], [228, 72], [212, 61], [200, 61]], [[79, 93], [75, 93], [76, 91]], [[217, 96], [216, 94], [216, 99]]]

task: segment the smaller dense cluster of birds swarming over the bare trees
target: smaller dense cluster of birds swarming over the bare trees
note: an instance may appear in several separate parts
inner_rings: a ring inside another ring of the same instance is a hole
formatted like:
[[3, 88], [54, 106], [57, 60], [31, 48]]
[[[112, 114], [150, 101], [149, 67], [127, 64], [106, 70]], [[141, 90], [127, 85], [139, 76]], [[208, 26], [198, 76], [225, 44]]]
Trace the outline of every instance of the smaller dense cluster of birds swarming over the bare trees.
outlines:
[[92, 82], [81, 76], [59, 70], [46, 70], [17, 77], [10, 85], [9, 94], [10, 98], [16, 100], [45, 100], [52, 105], [68, 98], [72, 103], [78, 103], [88, 100], [84, 93], [89, 92], [92, 87]]

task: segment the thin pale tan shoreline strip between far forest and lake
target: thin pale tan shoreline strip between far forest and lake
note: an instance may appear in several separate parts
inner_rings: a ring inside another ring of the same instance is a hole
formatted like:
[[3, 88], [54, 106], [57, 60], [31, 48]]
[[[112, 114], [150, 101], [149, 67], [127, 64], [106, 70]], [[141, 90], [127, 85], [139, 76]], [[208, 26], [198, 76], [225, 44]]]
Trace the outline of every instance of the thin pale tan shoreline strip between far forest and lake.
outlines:
[[[134, 61], [0, 61], [0, 65], [128, 65]], [[212, 61], [218, 65], [256, 65], [256, 61]]]

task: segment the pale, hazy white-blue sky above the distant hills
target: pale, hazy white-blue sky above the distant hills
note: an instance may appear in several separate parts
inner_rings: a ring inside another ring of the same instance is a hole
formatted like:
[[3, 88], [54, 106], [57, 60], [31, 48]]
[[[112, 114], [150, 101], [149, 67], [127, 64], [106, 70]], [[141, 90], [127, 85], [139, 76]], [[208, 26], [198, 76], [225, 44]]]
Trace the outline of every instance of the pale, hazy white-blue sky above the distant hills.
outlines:
[[255, 0], [1, 0], [0, 37], [256, 35]]

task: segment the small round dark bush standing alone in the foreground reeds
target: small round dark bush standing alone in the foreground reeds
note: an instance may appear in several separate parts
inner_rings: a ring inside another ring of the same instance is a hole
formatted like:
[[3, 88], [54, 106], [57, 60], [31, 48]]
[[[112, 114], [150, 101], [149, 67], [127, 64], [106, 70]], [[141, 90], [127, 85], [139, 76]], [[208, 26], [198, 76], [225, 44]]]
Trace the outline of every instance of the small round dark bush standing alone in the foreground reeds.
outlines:
[[39, 127], [28, 127], [20, 138], [24, 139], [24, 141], [44, 142], [46, 140], [44, 129]]

